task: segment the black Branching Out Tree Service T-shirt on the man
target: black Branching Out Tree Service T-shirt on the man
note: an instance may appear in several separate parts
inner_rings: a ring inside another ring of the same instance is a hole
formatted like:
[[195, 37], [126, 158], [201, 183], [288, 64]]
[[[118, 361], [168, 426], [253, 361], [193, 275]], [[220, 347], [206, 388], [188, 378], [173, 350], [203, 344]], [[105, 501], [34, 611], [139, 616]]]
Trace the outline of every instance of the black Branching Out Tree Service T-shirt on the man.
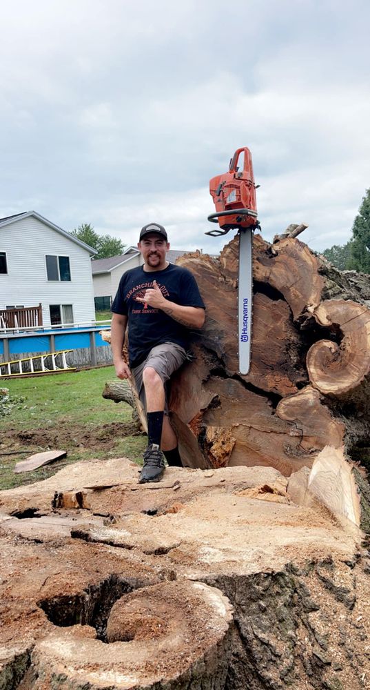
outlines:
[[128, 317], [130, 366], [141, 364], [152, 347], [163, 342], [184, 348], [189, 343], [189, 328], [161, 309], [136, 301], [136, 297], [143, 297], [145, 290], [153, 287], [154, 280], [170, 302], [205, 308], [196, 280], [187, 268], [169, 264], [163, 270], [145, 271], [143, 266], [127, 270], [121, 277], [112, 312]]

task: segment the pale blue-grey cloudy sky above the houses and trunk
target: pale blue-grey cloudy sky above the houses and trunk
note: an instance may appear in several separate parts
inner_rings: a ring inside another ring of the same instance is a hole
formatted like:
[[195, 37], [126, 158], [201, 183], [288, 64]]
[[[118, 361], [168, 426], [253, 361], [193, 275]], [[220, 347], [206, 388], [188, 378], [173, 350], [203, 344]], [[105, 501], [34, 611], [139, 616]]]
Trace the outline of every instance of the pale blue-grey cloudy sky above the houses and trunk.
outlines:
[[248, 146], [271, 239], [343, 244], [370, 187], [368, 0], [1, 3], [0, 217], [216, 252], [209, 178]]

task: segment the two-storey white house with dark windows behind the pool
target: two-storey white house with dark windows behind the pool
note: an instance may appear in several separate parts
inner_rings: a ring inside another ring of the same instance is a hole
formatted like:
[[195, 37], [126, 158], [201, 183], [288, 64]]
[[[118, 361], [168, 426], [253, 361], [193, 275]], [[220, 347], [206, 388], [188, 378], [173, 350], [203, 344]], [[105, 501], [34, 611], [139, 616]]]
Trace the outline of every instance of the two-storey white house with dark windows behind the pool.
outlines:
[[0, 218], [0, 327], [1, 311], [39, 303], [45, 326], [94, 320], [94, 254], [34, 211]]

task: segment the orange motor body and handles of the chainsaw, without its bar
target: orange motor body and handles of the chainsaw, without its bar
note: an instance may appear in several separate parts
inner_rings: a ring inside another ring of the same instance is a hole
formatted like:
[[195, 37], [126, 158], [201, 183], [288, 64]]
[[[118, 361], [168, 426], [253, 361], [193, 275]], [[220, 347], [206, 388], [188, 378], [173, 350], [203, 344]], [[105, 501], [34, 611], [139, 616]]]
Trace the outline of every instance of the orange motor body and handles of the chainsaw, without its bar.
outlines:
[[[242, 154], [243, 170], [239, 170], [238, 160]], [[228, 172], [212, 177], [209, 181], [209, 193], [214, 200], [216, 213], [209, 215], [208, 220], [218, 223], [220, 230], [210, 230], [207, 235], [225, 235], [232, 228], [256, 230], [259, 227], [256, 185], [249, 148], [238, 148], [230, 161]]]

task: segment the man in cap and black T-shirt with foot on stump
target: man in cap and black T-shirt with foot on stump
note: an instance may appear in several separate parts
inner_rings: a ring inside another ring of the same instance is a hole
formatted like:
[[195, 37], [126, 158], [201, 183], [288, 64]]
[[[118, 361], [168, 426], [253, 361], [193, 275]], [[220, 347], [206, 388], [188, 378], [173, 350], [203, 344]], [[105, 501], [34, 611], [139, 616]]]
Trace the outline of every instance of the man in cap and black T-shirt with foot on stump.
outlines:
[[[163, 226], [145, 225], [138, 250], [144, 264], [123, 274], [112, 304], [111, 344], [116, 375], [132, 375], [147, 413], [142, 484], [161, 479], [163, 453], [169, 465], [182, 465], [169, 423], [165, 384], [187, 359], [189, 329], [203, 326], [205, 306], [192, 273], [167, 262], [169, 243]], [[127, 324], [130, 367], [122, 354]]]

